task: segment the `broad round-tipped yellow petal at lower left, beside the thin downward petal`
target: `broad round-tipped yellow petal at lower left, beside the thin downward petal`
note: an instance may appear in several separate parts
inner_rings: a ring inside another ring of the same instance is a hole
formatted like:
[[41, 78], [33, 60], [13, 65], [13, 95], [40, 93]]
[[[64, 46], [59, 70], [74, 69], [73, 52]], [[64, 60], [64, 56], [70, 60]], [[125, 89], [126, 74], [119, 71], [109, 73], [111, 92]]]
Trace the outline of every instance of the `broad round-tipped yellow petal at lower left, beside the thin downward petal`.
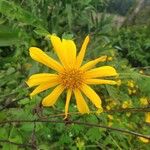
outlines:
[[62, 85], [58, 85], [47, 97], [45, 97], [42, 101], [43, 106], [53, 106], [60, 94], [64, 91], [64, 87]]

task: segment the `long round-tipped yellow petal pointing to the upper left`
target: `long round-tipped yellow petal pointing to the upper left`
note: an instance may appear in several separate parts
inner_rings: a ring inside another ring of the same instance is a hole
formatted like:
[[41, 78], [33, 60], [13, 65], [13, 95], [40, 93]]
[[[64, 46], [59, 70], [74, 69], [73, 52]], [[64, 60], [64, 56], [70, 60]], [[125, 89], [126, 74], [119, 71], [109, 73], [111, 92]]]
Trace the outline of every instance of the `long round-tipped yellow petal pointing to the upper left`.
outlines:
[[63, 68], [62, 66], [54, 59], [49, 57], [46, 53], [44, 53], [41, 49], [37, 47], [31, 47], [29, 49], [30, 56], [32, 59], [52, 68], [53, 70], [56, 70], [60, 72]]

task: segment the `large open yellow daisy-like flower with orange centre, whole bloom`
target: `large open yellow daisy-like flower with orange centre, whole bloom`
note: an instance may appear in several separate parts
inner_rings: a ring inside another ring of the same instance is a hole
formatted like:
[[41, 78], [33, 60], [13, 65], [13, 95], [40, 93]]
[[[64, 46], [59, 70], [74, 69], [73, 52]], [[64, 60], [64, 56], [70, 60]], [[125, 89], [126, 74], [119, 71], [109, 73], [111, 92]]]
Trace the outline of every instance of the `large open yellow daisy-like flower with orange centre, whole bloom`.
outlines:
[[59, 62], [37, 47], [31, 47], [29, 49], [32, 59], [46, 65], [56, 72], [54, 74], [39, 73], [32, 75], [26, 83], [29, 87], [37, 87], [30, 96], [32, 97], [44, 90], [55, 87], [54, 90], [42, 100], [42, 105], [49, 107], [53, 106], [62, 92], [66, 90], [65, 118], [68, 114], [69, 103], [73, 93], [76, 98], [77, 108], [81, 114], [90, 112], [82, 93], [87, 96], [98, 109], [102, 109], [101, 99], [90, 85], [116, 84], [113, 80], [102, 79], [102, 77], [117, 76], [118, 74], [115, 68], [102, 66], [93, 69], [97, 63], [106, 61], [107, 56], [99, 57], [82, 65], [89, 43], [89, 36], [85, 38], [78, 55], [76, 54], [76, 45], [73, 40], [61, 40], [56, 35], [50, 35], [50, 40], [59, 58]]

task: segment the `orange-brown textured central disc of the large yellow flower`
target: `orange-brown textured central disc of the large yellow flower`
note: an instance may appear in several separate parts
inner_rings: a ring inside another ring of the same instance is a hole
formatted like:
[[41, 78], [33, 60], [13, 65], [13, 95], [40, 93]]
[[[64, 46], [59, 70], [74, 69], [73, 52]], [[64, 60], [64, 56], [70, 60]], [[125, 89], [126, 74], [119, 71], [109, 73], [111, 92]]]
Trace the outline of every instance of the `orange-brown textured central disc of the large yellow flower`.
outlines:
[[67, 69], [59, 74], [60, 82], [65, 88], [80, 88], [83, 83], [83, 71], [78, 69]]

